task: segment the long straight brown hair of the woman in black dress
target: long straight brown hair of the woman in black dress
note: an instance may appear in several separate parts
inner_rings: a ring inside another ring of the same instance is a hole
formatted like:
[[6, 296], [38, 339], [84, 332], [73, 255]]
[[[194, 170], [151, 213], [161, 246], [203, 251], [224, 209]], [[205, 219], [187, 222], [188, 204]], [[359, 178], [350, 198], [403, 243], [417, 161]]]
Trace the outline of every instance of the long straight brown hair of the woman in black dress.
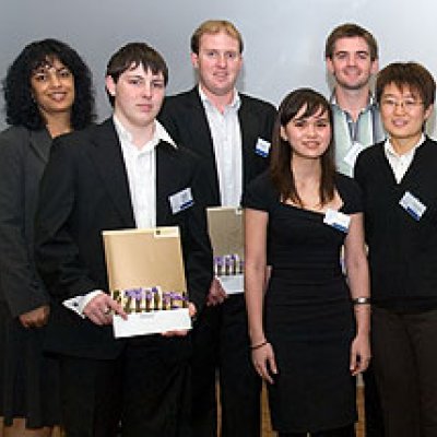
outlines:
[[[318, 113], [327, 113], [332, 128], [332, 110], [329, 102], [318, 92], [311, 88], [298, 88], [291, 92], [281, 103], [277, 118], [273, 128], [272, 152], [270, 173], [273, 185], [283, 199], [291, 199], [297, 204], [302, 200], [296, 189], [291, 162], [293, 160], [292, 147], [281, 137], [281, 127], [285, 128], [296, 117], [300, 109], [305, 108], [302, 117], [310, 117]], [[319, 188], [320, 203], [326, 204], [334, 197], [334, 146], [333, 140], [321, 156], [321, 180]]]

